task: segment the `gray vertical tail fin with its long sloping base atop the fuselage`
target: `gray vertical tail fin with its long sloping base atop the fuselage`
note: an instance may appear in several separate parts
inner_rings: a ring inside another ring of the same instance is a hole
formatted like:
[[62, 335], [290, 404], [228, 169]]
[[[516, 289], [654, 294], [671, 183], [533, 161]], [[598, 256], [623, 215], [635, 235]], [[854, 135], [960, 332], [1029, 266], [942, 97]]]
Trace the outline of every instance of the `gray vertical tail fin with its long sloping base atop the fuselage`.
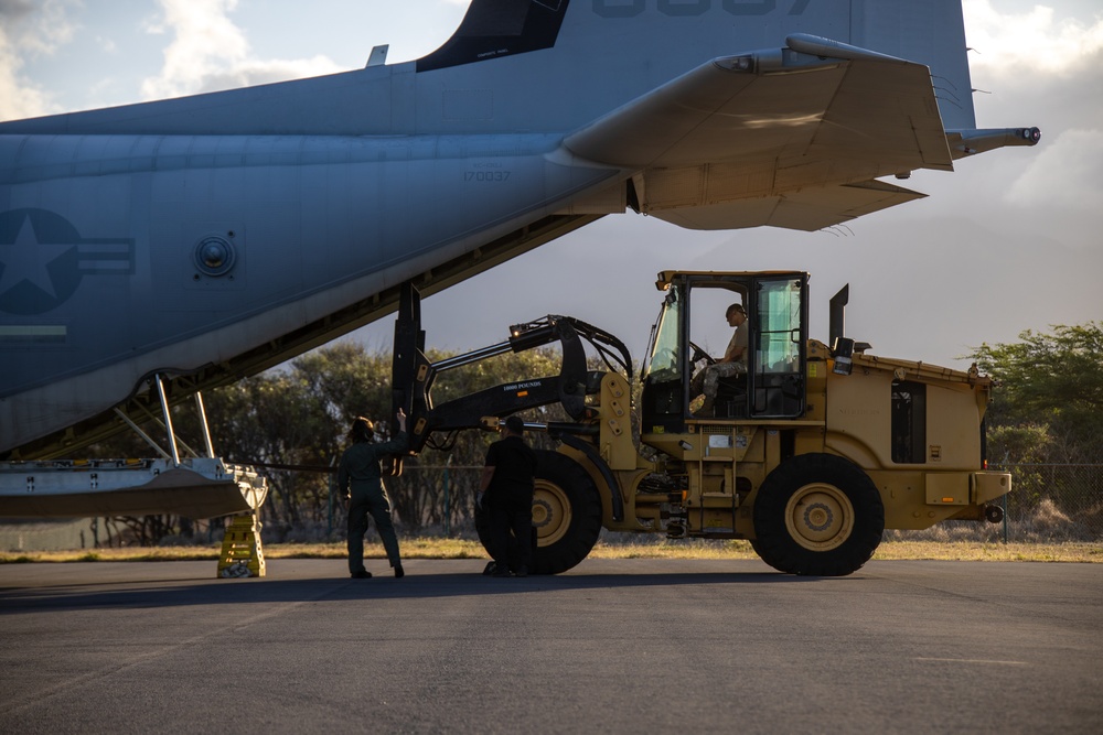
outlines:
[[944, 127], [975, 127], [960, 0], [473, 0], [416, 62], [4, 122], [0, 133], [566, 133], [713, 58], [801, 34], [930, 67]]

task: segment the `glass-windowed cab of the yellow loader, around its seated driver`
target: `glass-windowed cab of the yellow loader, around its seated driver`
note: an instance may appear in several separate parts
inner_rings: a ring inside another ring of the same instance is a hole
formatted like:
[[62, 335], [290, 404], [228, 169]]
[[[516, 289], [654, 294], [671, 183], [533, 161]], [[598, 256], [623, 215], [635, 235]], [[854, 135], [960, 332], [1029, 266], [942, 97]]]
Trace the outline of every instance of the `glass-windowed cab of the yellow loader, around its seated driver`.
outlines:
[[[682, 432], [692, 421], [793, 419], [805, 407], [808, 275], [803, 272], [673, 272], [652, 328], [641, 397], [644, 433]], [[747, 314], [746, 370], [718, 380], [713, 410], [695, 417], [703, 397], [693, 377], [724, 356], [732, 304]]]

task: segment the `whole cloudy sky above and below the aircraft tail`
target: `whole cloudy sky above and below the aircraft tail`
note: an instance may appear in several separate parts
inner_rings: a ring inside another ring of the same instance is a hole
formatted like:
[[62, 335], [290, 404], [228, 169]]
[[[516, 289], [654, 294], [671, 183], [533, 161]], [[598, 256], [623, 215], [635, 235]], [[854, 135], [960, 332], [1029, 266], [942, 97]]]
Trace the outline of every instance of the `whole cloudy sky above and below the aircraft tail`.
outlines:
[[[0, 120], [388, 63], [441, 45], [468, 0], [0, 0]], [[847, 333], [878, 355], [967, 367], [982, 343], [1103, 320], [1103, 3], [965, 0], [981, 128], [1037, 126], [1035, 148], [917, 172], [930, 196], [818, 233], [699, 233], [606, 217], [426, 299], [427, 346], [497, 344], [567, 314], [643, 357], [660, 270], [805, 270], [812, 336], [850, 284]], [[738, 50], [737, 50], [738, 51]], [[722, 325], [721, 325], [722, 326]], [[345, 338], [389, 349], [393, 320]]]

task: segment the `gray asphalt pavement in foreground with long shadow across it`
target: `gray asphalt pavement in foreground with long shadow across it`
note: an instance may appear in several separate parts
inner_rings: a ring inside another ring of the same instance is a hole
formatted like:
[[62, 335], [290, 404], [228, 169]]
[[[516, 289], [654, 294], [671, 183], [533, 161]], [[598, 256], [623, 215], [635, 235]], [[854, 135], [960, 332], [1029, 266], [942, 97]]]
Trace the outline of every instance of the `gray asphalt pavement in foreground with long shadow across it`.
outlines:
[[0, 565], [0, 733], [1103, 732], [1103, 564]]

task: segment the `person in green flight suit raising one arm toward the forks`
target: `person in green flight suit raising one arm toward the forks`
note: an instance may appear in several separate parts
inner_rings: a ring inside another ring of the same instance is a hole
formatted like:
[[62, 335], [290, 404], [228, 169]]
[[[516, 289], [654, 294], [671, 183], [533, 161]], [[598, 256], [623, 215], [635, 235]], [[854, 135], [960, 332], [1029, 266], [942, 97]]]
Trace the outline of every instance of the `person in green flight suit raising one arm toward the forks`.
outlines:
[[349, 572], [353, 579], [364, 580], [372, 573], [364, 569], [364, 533], [367, 516], [375, 519], [383, 548], [395, 570], [395, 576], [405, 576], [398, 553], [398, 537], [390, 520], [390, 498], [383, 487], [379, 460], [406, 448], [406, 413], [398, 409], [398, 433], [389, 442], [372, 443], [375, 435], [372, 422], [362, 417], [352, 422], [349, 439], [352, 446], [341, 455], [338, 467], [338, 488], [349, 504]]

